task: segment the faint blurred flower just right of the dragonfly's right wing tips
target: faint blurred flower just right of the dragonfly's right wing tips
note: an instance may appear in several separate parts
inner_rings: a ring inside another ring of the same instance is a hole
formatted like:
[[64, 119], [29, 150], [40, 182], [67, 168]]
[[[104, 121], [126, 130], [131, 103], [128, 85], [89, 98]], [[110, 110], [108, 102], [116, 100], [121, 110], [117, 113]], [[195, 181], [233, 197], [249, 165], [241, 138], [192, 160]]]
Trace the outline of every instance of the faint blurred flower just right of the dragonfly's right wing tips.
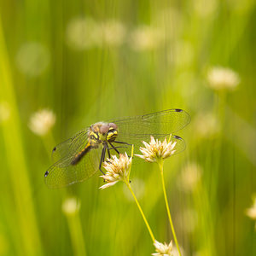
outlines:
[[218, 133], [218, 119], [212, 113], [199, 113], [194, 121], [195, 131], [199, 137], [211, 137]]

